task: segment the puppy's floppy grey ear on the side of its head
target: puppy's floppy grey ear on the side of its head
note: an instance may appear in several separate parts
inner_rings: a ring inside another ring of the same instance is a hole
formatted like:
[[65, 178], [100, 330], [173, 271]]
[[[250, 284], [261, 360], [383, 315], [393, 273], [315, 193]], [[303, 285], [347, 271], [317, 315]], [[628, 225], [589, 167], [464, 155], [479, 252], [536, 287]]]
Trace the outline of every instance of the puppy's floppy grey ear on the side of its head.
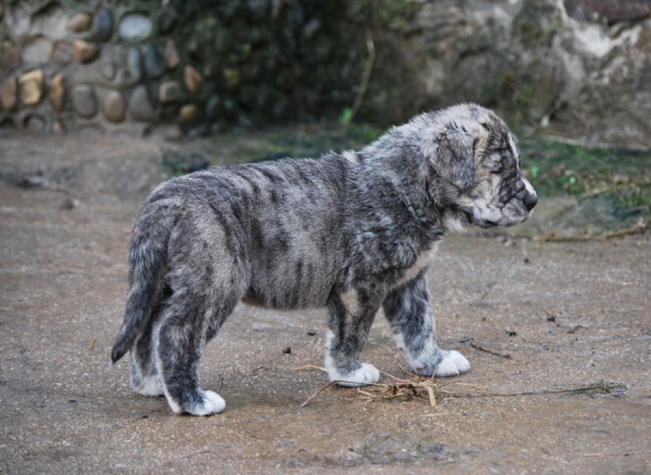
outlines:
[[423, 156], [436, 172], [461, 190], [474, 184], [475, 141], [465, 130], [446, 128], [424, 139]]

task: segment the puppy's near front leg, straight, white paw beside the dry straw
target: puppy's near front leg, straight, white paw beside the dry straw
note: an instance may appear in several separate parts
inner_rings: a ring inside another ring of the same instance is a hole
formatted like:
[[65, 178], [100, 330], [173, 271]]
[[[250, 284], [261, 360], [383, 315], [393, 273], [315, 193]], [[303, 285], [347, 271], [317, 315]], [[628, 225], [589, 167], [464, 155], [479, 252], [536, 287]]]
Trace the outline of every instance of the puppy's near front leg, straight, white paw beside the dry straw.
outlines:
[[326, 370], [330, 381], [341, 386], [363, 386], [380, 381], [380, 371], [360, 363], [361, 349], [369, 339], [379, 299], [360, 298], [355, 291], [333, 293], [328, 303]]

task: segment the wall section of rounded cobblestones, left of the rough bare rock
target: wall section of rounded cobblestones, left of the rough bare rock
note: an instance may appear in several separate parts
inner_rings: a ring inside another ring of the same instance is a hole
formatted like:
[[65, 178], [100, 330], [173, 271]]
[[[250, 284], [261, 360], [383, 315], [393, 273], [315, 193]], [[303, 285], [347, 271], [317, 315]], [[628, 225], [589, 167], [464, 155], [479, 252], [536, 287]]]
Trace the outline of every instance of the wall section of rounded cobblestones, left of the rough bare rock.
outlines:
[[363, 70], [349, 66], [345, 11], [344, 0], [4, 0], [0, 126], [139, 136], [334, 117]]

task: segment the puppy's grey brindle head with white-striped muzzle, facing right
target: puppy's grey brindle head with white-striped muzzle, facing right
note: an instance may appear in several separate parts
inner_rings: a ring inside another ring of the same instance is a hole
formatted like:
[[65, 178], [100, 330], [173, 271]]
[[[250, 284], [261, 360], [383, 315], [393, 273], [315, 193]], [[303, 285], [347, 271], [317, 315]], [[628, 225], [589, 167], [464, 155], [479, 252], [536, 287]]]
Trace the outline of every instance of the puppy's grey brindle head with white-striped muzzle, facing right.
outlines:
[[430, 116], [421, 153], [448, 187], [448, 201], [482, 228], [527, 219], [538, 202], [522, 176], [518, 141], [493, 112], [461, 104]]

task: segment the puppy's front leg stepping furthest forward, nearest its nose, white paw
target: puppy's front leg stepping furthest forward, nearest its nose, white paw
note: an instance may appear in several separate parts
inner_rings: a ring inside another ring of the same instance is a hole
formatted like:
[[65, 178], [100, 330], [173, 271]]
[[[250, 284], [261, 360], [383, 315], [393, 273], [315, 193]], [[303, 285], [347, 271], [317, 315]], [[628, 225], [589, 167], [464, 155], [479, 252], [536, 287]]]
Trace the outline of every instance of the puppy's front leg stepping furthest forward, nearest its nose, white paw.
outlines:
[[443, 377], [470, 370], [470, 363], [459, 351], [445, 351], [436, 345], [436, 326], [424, 274], [393, 291], [383, 308], [398, 348], [418, 374]]

